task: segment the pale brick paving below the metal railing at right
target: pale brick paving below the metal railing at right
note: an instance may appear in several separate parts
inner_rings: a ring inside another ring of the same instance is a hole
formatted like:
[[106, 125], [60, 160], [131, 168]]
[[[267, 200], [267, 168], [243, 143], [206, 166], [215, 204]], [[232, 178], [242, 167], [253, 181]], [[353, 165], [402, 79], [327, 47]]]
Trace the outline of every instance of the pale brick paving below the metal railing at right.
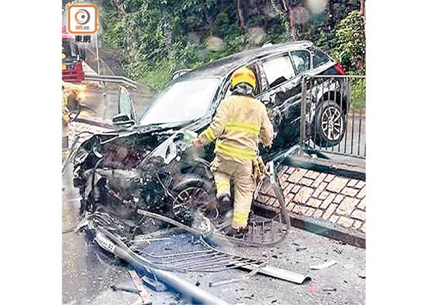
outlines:
[[[365, 181], [289, 166], [278, 173], [278, 178], [291, 216], [327, 220], [365, 233]], [[269, 184], [262, 187], [257, 201], [279, 205]]]

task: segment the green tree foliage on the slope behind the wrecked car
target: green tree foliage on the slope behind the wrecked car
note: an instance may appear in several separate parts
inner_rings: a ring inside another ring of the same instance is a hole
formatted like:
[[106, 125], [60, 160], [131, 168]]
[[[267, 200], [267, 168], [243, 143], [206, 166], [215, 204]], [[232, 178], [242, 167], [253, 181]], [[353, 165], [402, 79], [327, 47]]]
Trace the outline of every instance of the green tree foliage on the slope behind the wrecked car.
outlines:
[[[339, 43], [347, 43], [344, 28], [360, 27], [353, 27], [353, 18], [334, 36], [334, 26], [350, 8], [358, 9], [358, 1], [330, 0], [323, 13], [310, 15], [304, 24], [290, 22], [290, 12], [305, 4], [305, 0], [101, 0], [100, 38], [120, 50], [130, 78], [155, 88], [177, 69], [194, 69], [264, 41], [290, 41], [292, 33], [294, 39], [311, 40], [326, 51], [337, 48], [339, 54]], [[351, 60], [348, 65], [353, 68]]]

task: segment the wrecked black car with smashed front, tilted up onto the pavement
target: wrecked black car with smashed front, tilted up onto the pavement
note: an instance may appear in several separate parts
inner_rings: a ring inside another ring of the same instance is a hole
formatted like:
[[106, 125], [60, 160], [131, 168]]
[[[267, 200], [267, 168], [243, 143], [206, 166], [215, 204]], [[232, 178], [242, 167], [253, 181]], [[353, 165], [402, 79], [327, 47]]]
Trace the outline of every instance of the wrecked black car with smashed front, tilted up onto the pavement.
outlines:
[[[120, 113], [113, 118], [118, 130], [94, 135], [83, 142], [74, 158], [74, 187], [82, 197], [81, 212], [102, 210], [144, 231], [147, 222], [141, 220], [141, 211], [182, 224], [191, 224], [194, 208], [206, 211], [215, 201], [210, 172], [214, 144], [195, 148], [184, 134], [186, 130], [200, 133], [208, 126], [220, 100], [231, 94], [231, 73], [243, 65], [257, 74], [256, 96], [266, 104], [276, 131], [272, 148], [260, 151], [266, 161], [299, 142], [301, 78], [344, 73], [313, 43], [299, 41], [246, 50], [186, 71], [165, 87], [140, 118], [132, 96], [121, 87]], [[339, 90], [343, 86], [339, 81], [319, 81], [329, 83], [323, 90], [310, 91], [306, 106], [316, 111], [305, 121], [319, 126], [319, 145], [331, 146], [344, 136], [349, 99], [341, 96], [341, 103], [335, 102], [337, 95], [346, 92]], [[332, 132], [325, 130], [325, 122]], [[278, 216], [286, 217], [280, 200]]]

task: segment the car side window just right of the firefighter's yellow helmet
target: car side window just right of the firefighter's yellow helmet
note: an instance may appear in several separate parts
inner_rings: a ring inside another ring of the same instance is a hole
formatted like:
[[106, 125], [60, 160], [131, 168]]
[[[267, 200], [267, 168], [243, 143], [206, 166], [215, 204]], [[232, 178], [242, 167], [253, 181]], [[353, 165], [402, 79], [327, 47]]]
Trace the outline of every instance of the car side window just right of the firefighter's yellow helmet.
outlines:
[[277, 86], [295, 76], [292, 62], [287, 55], [266, 60], [261, 65], [270, 87]]

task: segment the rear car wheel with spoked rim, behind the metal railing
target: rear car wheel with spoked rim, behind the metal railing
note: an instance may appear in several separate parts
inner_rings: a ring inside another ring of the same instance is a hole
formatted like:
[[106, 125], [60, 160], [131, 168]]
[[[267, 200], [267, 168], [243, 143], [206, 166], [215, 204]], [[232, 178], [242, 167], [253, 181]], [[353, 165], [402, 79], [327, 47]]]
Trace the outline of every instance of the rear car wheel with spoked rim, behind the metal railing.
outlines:
[[326, 100], [318, 106], [313, 123], [313, 142], [320, 147], [337, 145], [346, 133], [346, 116], [333, 100]]

